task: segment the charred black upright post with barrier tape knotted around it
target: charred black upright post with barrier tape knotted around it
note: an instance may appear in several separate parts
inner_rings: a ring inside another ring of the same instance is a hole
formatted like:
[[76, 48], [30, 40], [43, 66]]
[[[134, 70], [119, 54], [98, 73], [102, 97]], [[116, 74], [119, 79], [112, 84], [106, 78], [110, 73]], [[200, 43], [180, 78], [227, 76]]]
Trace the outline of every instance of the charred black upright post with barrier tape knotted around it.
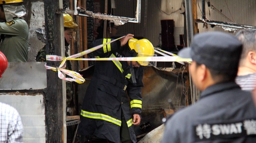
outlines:
[[[46, 55], [63, 56], [64, 53], [63, 15], [56, 13], [60, 8], [62, 8], [62, 1], [44, 0]], [[52, 67], [60, 65], [60, 62], [56, 61], [46, 61], [46, 63]], [[47, 70], [47, 90], [44, 97], [46, 143], [64, 142], [62, 84], [57, 72]]]

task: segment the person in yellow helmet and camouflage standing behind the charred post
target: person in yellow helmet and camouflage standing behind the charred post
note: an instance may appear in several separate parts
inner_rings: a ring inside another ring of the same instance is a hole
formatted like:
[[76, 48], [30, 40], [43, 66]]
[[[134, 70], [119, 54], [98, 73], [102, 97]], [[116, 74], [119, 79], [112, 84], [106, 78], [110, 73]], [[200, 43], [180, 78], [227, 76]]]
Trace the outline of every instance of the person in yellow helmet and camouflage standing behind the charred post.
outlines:
[[[68, 49], [69, 45], [72, 42], [72, 33], [74, 30], [78, 28], [78, 25], [76, 24], [76, 21], [73, 20], [71, 15], [63, 13], [63, 20], [64, 20], [64, 37], [65, 37], [65, 57], [68, 57]], [[42, 40], [42, 39], [41, 39]], [[45, 41], [45, 40], [42, 40]], [[45, 62], [46, 61], [46, 52], [45, 52], [45, 46], [37, 53], [36, 55], [36, 61], [38, 62]], [[66, 61], [67, 63], [67, 69], [72, 70], [70, 60]], [[68, 76], [67, 76], [68, 77]], [[73, 107], [74, 104], [72, 102], [73, 99], [73, 84], [69, 81], [66, 81], [66, 96], [67, 96], [67, 107]]]

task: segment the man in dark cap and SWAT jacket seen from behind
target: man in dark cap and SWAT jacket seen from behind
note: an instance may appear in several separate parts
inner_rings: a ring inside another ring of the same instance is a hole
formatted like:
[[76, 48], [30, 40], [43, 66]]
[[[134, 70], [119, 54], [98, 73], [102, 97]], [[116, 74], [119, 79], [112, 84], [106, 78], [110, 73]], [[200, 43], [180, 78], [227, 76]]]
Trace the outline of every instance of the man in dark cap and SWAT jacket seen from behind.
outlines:
[[242, 43], [230, 34], [206, 32], [178, 55], [192, 58], [190, 72], [201, 98], [166, 123], [162, 143], [252, 143], [256, 109], [251, 93], [235, 83]]

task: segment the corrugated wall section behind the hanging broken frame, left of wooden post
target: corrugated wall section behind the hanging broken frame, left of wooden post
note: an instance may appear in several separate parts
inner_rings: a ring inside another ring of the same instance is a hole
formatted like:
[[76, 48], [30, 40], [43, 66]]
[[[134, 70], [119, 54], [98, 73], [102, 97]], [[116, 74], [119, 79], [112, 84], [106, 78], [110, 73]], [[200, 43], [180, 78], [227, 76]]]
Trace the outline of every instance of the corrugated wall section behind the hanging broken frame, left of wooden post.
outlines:
[[[116, 1], [117, 8], [114, 9], [113, 14], [118, 16], [130, 16], [134, 18], [136, 2], [136, 0]], [[175, 21], [175, 27], [180, 28], [184, 26], [184, 16], [180, 14], [184, 12], [184, 7], [181, 6], [181, 3], [182, 0], [142, 0], [140, 24], [126, 23], [123, 26], [119, 26], [118, 35], [123, 36], [128, 33], [132, 33], [135, 36], [143, 36], [144, 38], [148, 39], [154, 46], [157, 46], [158, 36], [159, 33], [161, 33], [160, 20], [172, 19]], [[181, 10], [179, 10], [180, 8]], [[146, 14], [145, 10], [147, 12]], [[146, 23], [144, 23], [145, 20]]]

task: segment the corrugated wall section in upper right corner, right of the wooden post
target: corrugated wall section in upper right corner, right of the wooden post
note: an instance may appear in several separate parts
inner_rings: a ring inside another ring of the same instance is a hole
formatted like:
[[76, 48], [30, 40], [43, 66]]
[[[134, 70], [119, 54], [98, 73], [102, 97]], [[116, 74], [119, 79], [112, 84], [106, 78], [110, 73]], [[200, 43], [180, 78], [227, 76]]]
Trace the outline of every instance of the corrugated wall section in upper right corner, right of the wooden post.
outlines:
[[[224, 22], [235, 22], [237, 24], [256, 26], [256, 1], [255, 0], [211, 0], [210, 4], [214, 7], [208, 7], [208, 0], [205, 0], [205, 16], [208, 20], [217, 20]], [[202, 10], [201, 0], [198, 1]], [[202, 18], [202, 13], [197, 7], [197, 17]], [[220, 11], [220, 12], [218, 12]], [[227, 18], [225, 18], [227, 17]], [[229, 20], [230, 19], [230, 20]], [[203, 28], [203, 24], [198, 24], [199, 32], [203, 31], [224, 31], [223, 28]]]

